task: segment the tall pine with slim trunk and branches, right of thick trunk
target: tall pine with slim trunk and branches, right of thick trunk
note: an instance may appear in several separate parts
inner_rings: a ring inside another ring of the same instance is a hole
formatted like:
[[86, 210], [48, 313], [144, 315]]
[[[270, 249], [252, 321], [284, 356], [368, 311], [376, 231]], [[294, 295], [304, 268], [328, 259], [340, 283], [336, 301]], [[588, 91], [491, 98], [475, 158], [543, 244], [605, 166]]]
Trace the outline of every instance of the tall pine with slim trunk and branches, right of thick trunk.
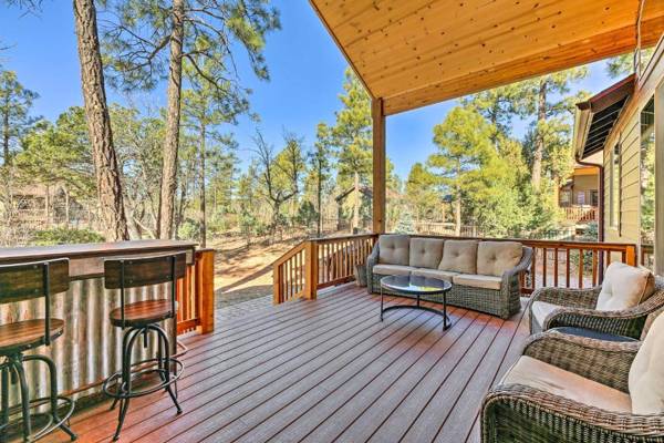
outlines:
[[[264, 37], [279, 28], [279, 14], [267, 0], [107, 0], [106, 17], [103, 40], [113, 84], [133, 91], [167, 82], [159, 235], [169, 238], [174, 234], [183, 63], [195, 72], [186, 80], [191, 84], [243, 90], [235, 58], [243, 48], [253, 73], [268, 80]], [[214, 72], [204, 61], [216, 65]]]

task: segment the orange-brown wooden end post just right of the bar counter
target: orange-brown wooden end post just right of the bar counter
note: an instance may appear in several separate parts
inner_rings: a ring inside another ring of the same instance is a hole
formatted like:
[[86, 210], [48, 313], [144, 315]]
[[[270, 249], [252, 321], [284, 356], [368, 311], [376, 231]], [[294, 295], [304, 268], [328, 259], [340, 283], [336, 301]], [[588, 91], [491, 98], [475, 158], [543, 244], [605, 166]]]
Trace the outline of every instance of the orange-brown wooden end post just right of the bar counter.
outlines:
[[198, 332], [215, 330], [215, 250], [196, 251], [196, 303], [198, 311]]

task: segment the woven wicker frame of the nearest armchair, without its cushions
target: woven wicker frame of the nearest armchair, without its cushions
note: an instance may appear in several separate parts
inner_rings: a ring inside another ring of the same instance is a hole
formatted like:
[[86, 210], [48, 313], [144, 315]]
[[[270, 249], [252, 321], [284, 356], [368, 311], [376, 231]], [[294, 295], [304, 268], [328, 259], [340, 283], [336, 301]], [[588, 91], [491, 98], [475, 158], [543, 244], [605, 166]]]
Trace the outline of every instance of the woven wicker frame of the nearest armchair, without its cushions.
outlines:
[[[640, 346], [549, 331], [533, 336], [523, 354], [626, 393]], [[664, 442], [664, 415], [613, 412], [525, 384], [500, 384], [485, 398], [481, 441]]]

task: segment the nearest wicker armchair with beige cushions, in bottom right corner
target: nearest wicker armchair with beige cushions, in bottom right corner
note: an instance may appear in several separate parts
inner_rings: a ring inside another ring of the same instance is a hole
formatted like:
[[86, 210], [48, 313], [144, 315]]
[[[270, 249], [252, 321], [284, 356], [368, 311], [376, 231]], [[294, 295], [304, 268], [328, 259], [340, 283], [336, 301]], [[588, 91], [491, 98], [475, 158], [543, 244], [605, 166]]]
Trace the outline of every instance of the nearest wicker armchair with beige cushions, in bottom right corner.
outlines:
[[664, 316], [643, 342], [532, 336], [485, 398], [481, 441], [664, 443]]

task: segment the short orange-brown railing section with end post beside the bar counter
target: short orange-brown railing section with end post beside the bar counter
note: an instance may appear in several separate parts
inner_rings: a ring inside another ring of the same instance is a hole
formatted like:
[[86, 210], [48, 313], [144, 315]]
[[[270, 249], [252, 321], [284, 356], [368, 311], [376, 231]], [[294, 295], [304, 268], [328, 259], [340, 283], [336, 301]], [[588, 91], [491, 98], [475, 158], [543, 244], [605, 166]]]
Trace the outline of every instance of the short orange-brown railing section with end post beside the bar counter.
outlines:
[[215, 250], [197, 249], [176, 287], [177, 333], [215, 330]]

